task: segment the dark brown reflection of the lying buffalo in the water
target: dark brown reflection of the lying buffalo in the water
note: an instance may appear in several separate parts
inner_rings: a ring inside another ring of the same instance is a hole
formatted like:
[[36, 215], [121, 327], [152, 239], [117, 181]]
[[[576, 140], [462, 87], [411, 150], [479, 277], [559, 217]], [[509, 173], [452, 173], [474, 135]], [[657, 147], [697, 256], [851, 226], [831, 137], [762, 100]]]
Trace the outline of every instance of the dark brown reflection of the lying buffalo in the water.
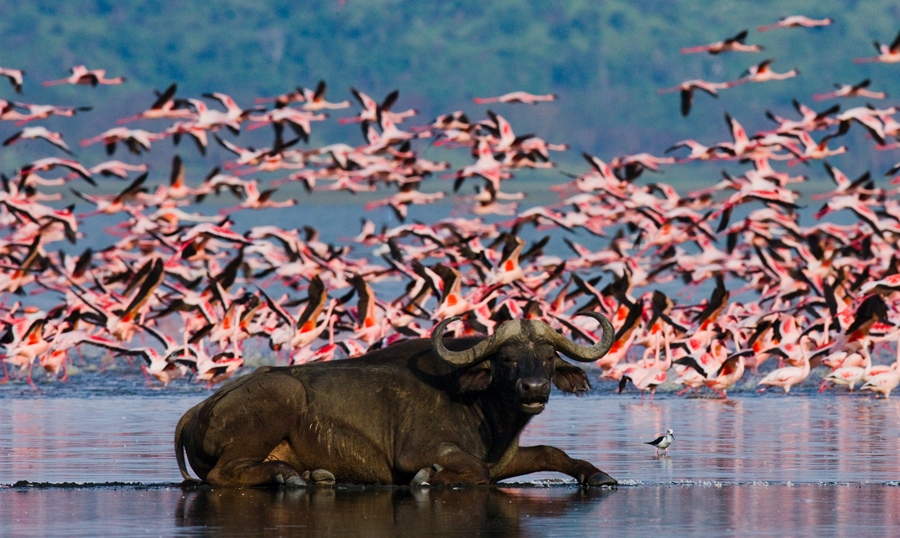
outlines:
[[[541, 520], [578, 525], [609, 490], [200, 490], [178, 503], [175, 524], [221, 535], [527, 535]], [[596, 521], [596, 519], [595, 519]]]

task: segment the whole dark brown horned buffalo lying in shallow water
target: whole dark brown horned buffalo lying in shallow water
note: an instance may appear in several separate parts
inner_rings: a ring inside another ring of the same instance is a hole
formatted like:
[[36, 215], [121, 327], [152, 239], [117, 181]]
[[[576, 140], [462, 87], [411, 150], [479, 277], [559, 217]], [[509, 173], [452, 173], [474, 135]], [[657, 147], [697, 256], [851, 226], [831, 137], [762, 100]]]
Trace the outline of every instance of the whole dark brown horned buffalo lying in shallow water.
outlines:
[[212, 486], [302, 487], [309, 481], [482, 485], [556, 471], [584, 486], [614, 486], [593, 464], [552, 446], [519, 446], [543, 411], [552, 382], [590, 390], [584, 371], [558, 353], [593, 362], [614, 330], [576, 344], [544, 322], [512, 320], [488, 337], [432, 337], [358, 358], [261, 367], [188, 410], [175, 429], [186, 483], [191, 468]]

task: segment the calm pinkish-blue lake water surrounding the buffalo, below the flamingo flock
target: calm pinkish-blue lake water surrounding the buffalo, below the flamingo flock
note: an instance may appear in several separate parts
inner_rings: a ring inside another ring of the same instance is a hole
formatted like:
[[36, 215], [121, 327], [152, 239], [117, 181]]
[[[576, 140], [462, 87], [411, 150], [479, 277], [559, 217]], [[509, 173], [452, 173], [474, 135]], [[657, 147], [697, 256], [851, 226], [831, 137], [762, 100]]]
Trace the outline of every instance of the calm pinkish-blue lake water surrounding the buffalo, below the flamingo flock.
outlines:
[[[493, 489], [182, 491], [172, 434], [209, 392], [101, 377], [116, 386], [0, 391], [0, 535], [887, 536], [900, 528], [900, 399], [811, 387], [650, 401], [597, 383], [586, 397], [554, 394], [522, 441], [594, 462], [620, 481], [616, 490], [583, 490], [547, 473]], [[657, 457], [643, 443], [666, 428], [676, 440]]]

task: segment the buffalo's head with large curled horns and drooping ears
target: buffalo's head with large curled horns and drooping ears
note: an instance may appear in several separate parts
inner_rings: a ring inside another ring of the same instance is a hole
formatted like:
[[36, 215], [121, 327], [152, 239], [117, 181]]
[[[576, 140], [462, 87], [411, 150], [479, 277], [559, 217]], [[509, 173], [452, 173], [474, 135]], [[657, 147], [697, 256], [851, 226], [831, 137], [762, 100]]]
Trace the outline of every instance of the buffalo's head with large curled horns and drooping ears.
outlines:
[[[467, 390], [483, 390], [493, 385], [511, 397], [526, 414], [538, 414], [550, 397], [550, 383], [564, 392], [590, 390], [584, 372], [565, 361], [557, 352], [579, 362], [594, 362], [612, 347], [615, 331], [602, 314], [582, 312], [600, 322], [602, 339], [594, 345], [576, 344], [537, 320], [508, 321], [475, 346], [451, 351], [444, 346], [448, 318], [435, 327], [431, 336], [434, 352], [444, 361], [465, 367], [461, 384]], [[491, 360], [488, 360], [491, 359]]]

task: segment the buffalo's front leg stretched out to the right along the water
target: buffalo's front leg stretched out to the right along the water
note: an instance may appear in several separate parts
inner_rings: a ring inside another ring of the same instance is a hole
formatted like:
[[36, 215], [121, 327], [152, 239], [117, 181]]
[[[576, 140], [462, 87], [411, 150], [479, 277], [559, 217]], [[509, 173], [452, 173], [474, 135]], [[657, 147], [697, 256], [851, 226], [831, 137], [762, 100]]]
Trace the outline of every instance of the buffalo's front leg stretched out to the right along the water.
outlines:
[[552, 446], [519, 447], [515, 455], [502, 469], [492, 476], [493, 481], [503, 480], [541, 471], [565, 473], [584, 486], [615, 486], [615, 478], [604, 473], [592, 463], [570, 457]]

